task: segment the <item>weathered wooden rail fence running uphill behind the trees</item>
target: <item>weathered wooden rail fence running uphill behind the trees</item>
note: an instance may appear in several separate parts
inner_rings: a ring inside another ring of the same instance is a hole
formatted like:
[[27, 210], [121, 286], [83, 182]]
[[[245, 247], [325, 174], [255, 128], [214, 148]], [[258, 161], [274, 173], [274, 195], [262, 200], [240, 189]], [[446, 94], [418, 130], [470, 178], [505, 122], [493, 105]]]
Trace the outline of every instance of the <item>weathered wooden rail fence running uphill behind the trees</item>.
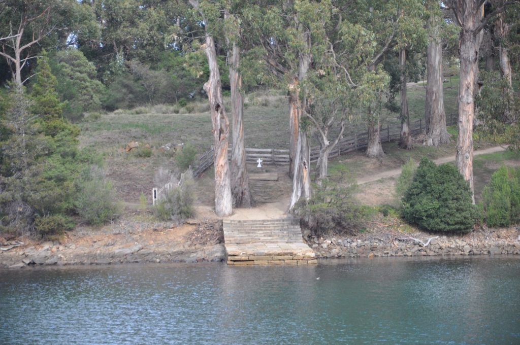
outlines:
[[[453, 125], [456, 121], [456, 114], [447, 114], [447, 124]], [[424, 123], [422, 118], [415, 121], [410, 121], [411, 135], [418, 135], [423, 132]], [[397, 140], [401, 136], [401, 125], [382, 127], [380, 131], [380, 138], [382, 142]], [[361, 134], [354, 134], [354, 136], [345, 137], [341, 139], [336, 147], [329, 153], [329, 157], [340, 156], [347, 152], [364, 149], [368, 146], [368, 132]], [[320, 152], [319, 147], [310, 149], [310, 162], [316, 162]], [[213, 147], [204, 153], [199, 158], [199, 163], [196, 169], [193, 170], [193, 176], [198, 177], [207, 168], [213, 165]], [[228, 149], [228, 156], [231, 158], [231, 148]], [[262, 160], [262, 164], [287, 165], [289, 164], [289, 150], [277, 149], [245, 149], [246, 163], [256, 164], [258, 158]]]

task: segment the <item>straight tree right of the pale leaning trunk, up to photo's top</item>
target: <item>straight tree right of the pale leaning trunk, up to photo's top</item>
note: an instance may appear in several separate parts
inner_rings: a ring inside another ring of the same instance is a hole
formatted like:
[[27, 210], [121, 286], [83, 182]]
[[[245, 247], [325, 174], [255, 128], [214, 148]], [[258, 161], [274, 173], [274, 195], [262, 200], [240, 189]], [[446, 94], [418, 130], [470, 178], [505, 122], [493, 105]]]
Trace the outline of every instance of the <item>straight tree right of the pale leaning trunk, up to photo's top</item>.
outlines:
[[[228, 6], [232, 4], [227, 4]], [[232, 6], [230, 6], [232, 7]], [[245, 165], [244, 145], [244, 95], [240, 69], [240, 23], [225, 12], [226, 41], [228, 45], [229, 81], [231, 84], [231, 195], [235, 207], [251, 207], [253, 199], [249, 188], [248, 170]]]

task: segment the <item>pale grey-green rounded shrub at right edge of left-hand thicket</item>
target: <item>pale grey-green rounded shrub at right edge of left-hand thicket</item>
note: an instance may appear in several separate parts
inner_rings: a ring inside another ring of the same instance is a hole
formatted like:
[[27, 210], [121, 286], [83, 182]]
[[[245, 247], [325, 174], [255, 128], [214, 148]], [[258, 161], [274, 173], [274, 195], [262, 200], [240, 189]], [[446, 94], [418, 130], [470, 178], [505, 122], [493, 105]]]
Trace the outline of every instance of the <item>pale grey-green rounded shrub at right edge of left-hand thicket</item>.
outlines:
[[84, 222], [98, 226], [119, 216], [120, 208], [115, 203], [112, 184], [99, 167], [84, 171], [77, 188], [74, 206]]

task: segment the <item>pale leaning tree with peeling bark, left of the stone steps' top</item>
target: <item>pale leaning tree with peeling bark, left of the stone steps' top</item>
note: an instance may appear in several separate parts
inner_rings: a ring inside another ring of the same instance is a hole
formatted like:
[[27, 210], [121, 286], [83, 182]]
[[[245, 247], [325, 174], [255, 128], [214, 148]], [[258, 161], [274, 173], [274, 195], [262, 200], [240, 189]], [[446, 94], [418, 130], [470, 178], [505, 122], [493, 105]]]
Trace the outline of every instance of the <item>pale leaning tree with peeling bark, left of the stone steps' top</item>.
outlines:
[[[207, 98], [210, 102], [211, 122], [213, 124], [213, 144], [215, 150], [215, 213], [219, 217], [224, 217], [231, 214], [233, 202], [228, 162], [229, 121], [222, 100], [222, 87], [220, 84], [215, 40], [210, 29], [211, 19], [214, 19], [214, 13], [218, 11], [218, 9], [211, 8], [211, 4], [201, 6], [198, 0], [190, 0], [190, 4], [199, 12], [205, 25], [205, 43], [202, 48], [207, 57], [210, 78], [204, 84], [204, 91], [206, 91]], [[207, 14], [206, 10], [213, 11], [213, 13]]]

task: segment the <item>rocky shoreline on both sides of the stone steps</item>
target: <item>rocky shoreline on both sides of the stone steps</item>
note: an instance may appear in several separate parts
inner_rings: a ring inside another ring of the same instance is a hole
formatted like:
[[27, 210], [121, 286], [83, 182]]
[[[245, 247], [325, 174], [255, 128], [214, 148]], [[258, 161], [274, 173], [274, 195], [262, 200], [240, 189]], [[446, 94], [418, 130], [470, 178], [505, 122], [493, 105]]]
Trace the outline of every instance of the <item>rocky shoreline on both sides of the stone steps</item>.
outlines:
[[[0, 269], [225, 261], [220, 224], [218, 221], [202, 222], [177, 228], [138, 228], [126, 232], [105, 229], [94, 234], [80, 230], [60, 242], [0, 239]], [[305, 230], [303, 238], [320, 259], [520, 255], [520, 228], [472, 232], [465, 236], [370, 232], [357, 236], [316, 237]]]

